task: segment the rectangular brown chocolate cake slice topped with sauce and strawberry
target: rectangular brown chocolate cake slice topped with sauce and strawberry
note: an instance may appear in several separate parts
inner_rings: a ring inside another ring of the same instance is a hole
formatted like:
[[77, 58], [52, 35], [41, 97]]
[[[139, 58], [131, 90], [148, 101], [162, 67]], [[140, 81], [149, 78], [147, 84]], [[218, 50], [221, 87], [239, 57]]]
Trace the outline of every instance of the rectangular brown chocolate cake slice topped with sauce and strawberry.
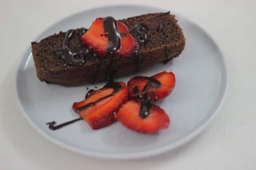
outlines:
[[[185, 38], [175, 15], [144, 14], [119, 20], [128, 26], [139, 48], [128, 57], [114, 56], [111, 63], [113, 77], [121, 77], [143, 70], [158, 62], [178, 57]], [[85, 28], [51, 35], [40, 42], [32, 42], [32, 54], [38, 78], [43, 82], [62, 86], [77, 86], [107, 80], [107, 56], [88, 50], [82, 44]], [[102, 34], [107, 36], [108, 34]], [[122, 36], [122, 33], [120, 33]], [[111, 39], [110, 39], [111, 40]], [[110, 74], [110, 73], [108, 73]]]

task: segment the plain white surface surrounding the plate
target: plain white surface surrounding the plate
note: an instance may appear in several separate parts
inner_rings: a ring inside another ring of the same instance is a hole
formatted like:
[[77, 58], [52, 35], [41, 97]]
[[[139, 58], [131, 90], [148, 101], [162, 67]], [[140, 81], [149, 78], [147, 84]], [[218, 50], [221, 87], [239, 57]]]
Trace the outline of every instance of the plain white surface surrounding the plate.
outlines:
[[[256, 1], [129, 0], [169, 8], [206, 30], [230, 67], [227, 100], [212, 125], [175, 152], [148, 159], [113, 161], [71, 153], [50, 143], [28, 124], [15, 99], [21, 54], [45, 28], [89, 8], [121, 0], [1, 0], [0, 169], [1, 170], [255, 170]], [[199, 49], [200, 50], [200, 49]]]

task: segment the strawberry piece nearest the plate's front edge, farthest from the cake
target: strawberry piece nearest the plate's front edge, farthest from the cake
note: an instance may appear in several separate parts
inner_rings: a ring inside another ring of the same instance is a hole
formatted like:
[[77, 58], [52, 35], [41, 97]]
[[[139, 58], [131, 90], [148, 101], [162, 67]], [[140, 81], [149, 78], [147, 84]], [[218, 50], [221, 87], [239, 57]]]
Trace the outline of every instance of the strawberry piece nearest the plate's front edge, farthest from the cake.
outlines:
[[[145, 106], [145, 105], [149, 106]], [[142, 106], [143, 105], [143, 106]], [[149, 108], [145, 113], [145, 107]], [[143, 114], [144, 115], [140, 115]], [[142, 112], [142, 113], [141, 113]], [[148, 116], [147, 116], [148, 115]], [[159, 106], [130, 100], [116, 114], [117, 120], [128, 129], [140, 133], [154, 133], [169, 127], [169, 117]]]

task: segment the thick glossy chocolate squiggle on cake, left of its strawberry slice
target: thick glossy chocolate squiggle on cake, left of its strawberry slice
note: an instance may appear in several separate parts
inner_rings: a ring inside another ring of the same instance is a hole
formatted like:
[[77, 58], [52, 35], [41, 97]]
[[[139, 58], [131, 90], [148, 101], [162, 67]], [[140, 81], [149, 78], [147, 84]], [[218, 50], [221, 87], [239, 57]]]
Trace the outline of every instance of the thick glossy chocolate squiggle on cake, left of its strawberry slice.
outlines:
[[[81, 32], [85, 32], [85, 31], [86, 29], [82, 28], [80, 30], [80, 35], [81, 35]], [[80, 52], [76, 52], [76, 53], [74, 53], [70, 48], [68, 48], [68, 42], [74, 32], [75, 32], [74, 29], [68, 30], [62, 42], [62, 47], [53, 50], [53, 53], [57, 57], [61, 57], [61, 59], [64, 59], [65, 61], [64, 66], [66, 66], [67, 64], [82, 65], [84, 63], [84, 56], [89, 53], [88, 49], [84, 47], [82, 47], [82, 50]], [[81, 46], [83, 45], [81, 44]], [[79, 56], [78, 59], [75, 58], [76, 56]]]

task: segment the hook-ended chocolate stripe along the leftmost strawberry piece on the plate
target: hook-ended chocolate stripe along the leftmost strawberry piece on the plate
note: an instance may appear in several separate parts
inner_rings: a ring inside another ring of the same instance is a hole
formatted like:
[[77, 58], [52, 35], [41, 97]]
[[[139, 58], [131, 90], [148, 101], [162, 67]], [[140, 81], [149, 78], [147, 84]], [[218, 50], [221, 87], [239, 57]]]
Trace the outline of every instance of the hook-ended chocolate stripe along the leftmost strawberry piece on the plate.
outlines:
[[114, 94], [118, 93], [122, 89], [122, 85], [117, 83], [117, 82], [110, 82], [110, 83], [106, 84], [103, 88], [113, 88], [114, 90], [113, 90], [113, 92], [111, 94], [109, 94], [107, 96], [104, 96], [104, 97], [96, 100], [95, 102], [91, 102], [91, 103], [88, 103], [87, 105], [84, 105], [84, 106], [82, 106], [80, 108], [77, 108], [76, 112], [84, 110], [84, 109], [87, 109], [90, 106], [95, 105], [96, 103], [98, 103], [98, 102], [100, 102], [100, 101], [102, 101], [104, 99], [107, 99], [108, 97], [113, 96]]

